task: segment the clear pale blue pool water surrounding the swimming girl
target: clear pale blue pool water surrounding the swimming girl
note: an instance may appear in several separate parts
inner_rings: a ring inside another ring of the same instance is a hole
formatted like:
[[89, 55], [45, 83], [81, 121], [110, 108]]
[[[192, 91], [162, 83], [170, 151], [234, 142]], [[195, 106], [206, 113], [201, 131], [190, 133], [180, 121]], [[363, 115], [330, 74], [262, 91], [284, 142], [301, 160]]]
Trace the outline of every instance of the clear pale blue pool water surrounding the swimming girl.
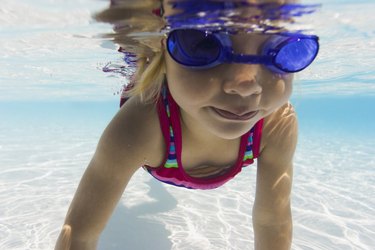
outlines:
[[[314, 1], [309, 1], [314, 2]], [[118, 110], [121, 60], [93, 36], [89, 0], [0, 6], [0, 249], [52, 249], [96, 143]], [[325, 1], [317, 61], [296, 77], [293, 249], [375, 245], [373, 1]], [[361, 14], [355, 11], [361, 9]], [[99, 249], [252, 249], [255, 169], [208, 192], [137, 172]], [[147, 238], [147, 240], [145, 240]]]

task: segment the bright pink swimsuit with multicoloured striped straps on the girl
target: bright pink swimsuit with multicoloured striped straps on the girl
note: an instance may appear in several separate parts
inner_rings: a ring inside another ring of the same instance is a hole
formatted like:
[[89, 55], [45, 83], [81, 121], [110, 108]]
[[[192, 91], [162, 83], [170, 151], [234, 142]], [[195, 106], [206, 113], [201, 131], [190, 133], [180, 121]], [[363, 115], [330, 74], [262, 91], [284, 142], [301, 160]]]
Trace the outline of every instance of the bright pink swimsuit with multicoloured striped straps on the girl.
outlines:
[[180, 110], [169, 94], [167, 87], [163, 88], [157, 107], [160, 126], [168, 150], [161, 166], [155, 168], [146, 165], [143, 167], [159, 181], [189, 189], [214, 189], [232, 179], [241, 172], [242, 167], [252, 164], [254, 159], [258, 157], [263, 119], [259, 120], [250, 131], [241, 136], [237, 161], [224, 174], [209, 177], [189, 176], [181, 163]]

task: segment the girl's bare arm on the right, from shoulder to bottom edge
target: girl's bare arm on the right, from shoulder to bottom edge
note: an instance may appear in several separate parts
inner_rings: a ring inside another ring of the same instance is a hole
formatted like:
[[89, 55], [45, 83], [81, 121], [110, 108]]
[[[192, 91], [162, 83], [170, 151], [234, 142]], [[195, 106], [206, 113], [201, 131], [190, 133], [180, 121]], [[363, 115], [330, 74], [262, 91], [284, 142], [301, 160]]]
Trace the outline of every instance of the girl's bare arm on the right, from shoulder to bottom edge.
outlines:
[[253, 208], [256, 250], [291, 247], [290, 193], [297, 130], [297, 118], [290, 104], [265, 119]]

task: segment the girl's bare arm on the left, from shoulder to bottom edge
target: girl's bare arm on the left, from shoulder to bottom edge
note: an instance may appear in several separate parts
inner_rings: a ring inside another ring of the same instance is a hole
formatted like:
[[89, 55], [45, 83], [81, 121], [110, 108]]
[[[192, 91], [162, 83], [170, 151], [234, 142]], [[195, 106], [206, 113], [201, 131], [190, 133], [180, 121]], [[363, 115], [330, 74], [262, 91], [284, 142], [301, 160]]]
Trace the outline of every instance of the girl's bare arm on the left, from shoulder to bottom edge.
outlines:
[[155, 108], [131, 98], [105, 129], [55, 249], [96, 249], [100, 233], [131, 176], [145, 163], [158, 165], [163, 150]]

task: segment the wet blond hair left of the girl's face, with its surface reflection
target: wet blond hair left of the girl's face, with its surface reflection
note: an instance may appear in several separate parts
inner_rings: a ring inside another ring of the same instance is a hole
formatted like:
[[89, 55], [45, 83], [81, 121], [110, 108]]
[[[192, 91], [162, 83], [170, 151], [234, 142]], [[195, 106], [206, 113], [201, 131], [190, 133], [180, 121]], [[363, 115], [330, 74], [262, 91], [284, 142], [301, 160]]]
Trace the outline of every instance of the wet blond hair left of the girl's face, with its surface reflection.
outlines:
[[[113, 39], [121, 46], [120, 51], [136, 56], [133, 62], [134, 76], [129, 76], [131, 88], [126, 88], [126, 96], [139, 96], [142, 102], [158, 99], [165, 79], [165, 56], [160, 36], [133, 37], [137, 32], [160, 33], [165, 26], [162, 16], [161, 1], [158, 0], [112, 0], [110, 6], [94, 18], [97, 21], [113, 25], [114, 33], [105, 37]], [[125, 58], [126, 61], [126, 58]]]

